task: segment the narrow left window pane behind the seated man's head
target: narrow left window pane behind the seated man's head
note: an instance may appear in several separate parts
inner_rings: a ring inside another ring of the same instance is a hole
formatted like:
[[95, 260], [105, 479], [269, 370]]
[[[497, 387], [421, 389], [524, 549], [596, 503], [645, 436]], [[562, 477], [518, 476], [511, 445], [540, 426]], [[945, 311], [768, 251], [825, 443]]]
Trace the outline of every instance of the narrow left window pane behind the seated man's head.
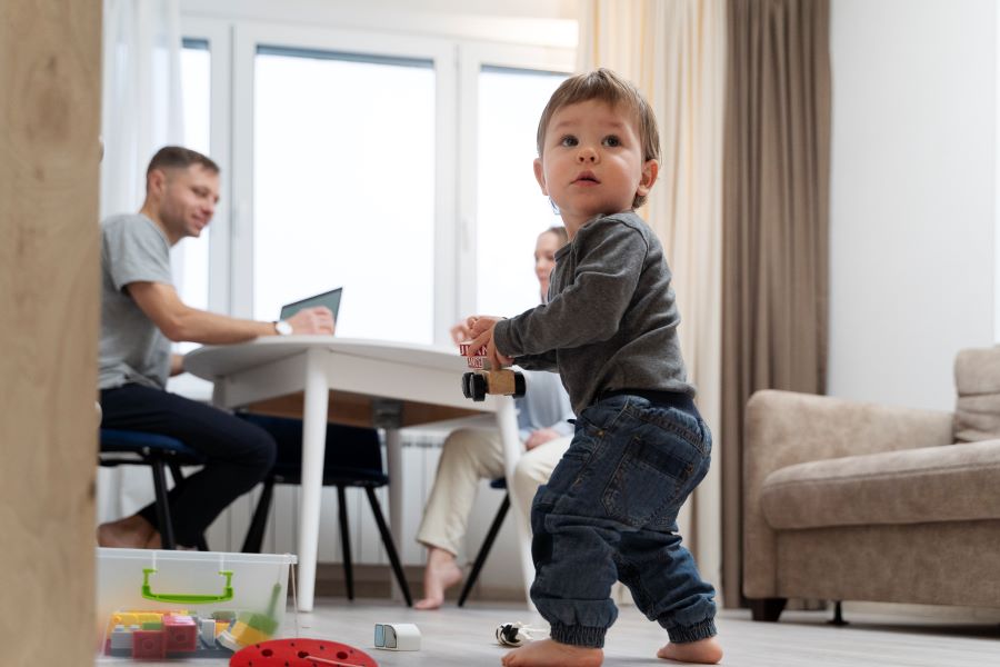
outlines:
[[[211, 51], [206, 41], [184, 40], [181, 50], [181, 94], [183, 96], [184, 146], [211, 157]], [[222, 193], [226, 196], [226, 193]], [[174, 279], [181, 300], [201, 310], [208, 309], [209, 236], [188, 238], [172, 252]], [[183, 348], [184, 346], [182, 346]], [[193, 345], [187, 346], [197, 347]]]

